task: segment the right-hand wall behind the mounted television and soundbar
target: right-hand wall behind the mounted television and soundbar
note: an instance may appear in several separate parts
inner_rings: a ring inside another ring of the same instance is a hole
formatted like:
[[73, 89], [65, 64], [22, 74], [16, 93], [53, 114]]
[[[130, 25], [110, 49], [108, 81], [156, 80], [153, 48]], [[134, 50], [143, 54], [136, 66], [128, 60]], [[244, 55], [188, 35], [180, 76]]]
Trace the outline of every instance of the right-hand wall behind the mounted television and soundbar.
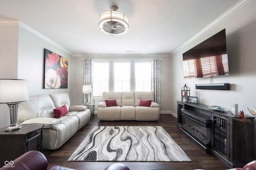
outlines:
[[[231, 103], [250, 115], [246, 107], [256, 106], [256, 1], [252, 0], [208, 29], [204, 34], [172, 55], [171, 111], [177, 113], [180, 90], [187, 84], [190, 96], [198, 96], [200, 104], [222, 106], [230, 110]], [[226, 28], [230, 74], [213, 77], [212, 83], [230, 83], [231, 90], [198, 90], [195, 84], [209, 84], [210, 78], [184, 80], [182, 54], [205, 39]]]

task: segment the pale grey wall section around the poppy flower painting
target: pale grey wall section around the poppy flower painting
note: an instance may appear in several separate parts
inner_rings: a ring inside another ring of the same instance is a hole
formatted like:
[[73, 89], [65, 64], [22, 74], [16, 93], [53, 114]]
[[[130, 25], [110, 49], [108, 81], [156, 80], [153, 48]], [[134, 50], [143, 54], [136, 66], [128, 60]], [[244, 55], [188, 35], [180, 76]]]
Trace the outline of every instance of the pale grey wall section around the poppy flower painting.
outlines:
[[[73, 57], [37, 35], [19, 28], [18, 78], [27, 79], [30, 96], [56, 92], [69, 93], [73, 82]], [[68, 89], [44, 89], [44, 49], [68, 59]]]

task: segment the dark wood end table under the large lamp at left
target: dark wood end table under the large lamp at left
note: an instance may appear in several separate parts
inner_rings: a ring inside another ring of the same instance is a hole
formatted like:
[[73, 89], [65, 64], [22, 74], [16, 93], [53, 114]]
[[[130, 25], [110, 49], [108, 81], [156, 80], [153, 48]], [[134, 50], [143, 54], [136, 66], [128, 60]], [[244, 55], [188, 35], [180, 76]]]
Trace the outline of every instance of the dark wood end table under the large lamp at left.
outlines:
[[4, 131], [0, 129], [0, 166], [30, 150], [42, 151], [42, 129], [44, 125], [23, 125], [22, 129]]

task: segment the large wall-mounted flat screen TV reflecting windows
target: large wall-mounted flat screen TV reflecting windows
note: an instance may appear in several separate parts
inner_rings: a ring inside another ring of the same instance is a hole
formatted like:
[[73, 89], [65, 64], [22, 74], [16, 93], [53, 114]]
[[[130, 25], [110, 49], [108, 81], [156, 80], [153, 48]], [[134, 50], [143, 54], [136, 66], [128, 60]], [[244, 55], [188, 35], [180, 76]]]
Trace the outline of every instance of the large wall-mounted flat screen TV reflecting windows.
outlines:
[[226, 30], [183, 54], [184, 79], [228, 75]]

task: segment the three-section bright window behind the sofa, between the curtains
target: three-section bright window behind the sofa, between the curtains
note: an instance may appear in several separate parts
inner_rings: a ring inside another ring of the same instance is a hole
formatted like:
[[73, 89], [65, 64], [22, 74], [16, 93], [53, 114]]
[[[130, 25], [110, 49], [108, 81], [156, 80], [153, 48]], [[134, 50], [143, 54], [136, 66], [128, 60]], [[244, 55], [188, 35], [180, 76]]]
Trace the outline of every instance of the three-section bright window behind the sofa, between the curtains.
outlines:
[[133, 91], [151, 91], [151, 61], [94, 61], [94, 96]]

